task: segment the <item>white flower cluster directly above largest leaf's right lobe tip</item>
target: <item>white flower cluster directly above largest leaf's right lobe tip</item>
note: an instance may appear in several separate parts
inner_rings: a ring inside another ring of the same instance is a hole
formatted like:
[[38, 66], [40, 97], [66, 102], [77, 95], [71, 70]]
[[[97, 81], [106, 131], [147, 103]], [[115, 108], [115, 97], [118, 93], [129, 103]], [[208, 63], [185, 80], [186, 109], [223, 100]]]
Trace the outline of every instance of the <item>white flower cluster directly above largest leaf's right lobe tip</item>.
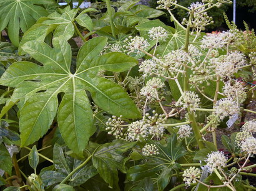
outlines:
[[140, 50], [146, 50], [147, 47], [149, 47], [147, 40], [139, 36], [135, 36], [134, 38], [129, 36], [128, 39], [124, 40], [124, 43], [127, 44], [123, 46], [126, 49], [127, 54], [139, 54]]

